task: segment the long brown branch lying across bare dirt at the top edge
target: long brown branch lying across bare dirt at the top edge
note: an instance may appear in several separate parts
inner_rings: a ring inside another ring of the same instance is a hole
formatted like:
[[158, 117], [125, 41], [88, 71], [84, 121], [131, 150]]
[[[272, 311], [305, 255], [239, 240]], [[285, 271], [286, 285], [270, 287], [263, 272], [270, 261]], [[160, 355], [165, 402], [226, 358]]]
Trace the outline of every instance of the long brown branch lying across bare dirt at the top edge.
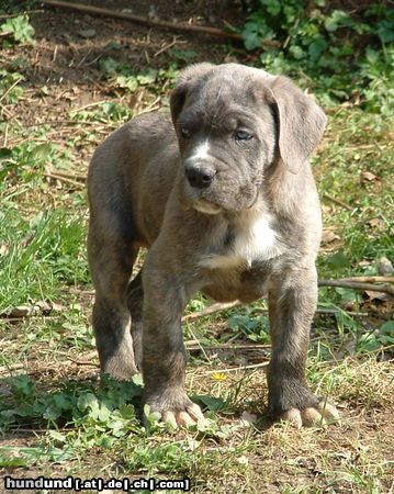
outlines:
[[[122, 19], [125, 21], [132, 21], [132, 22], [136, 22], [138, 24], [150, 25], [150, 26], [155, 26], [155, 27], [159, 27], [159, 29], [164, 29], [164, 30], [207, 34], [211, 36], [227, 37], [228, 40], [233, 40], [236, 42], [244, 41], [244, 38], [240, 34], [230, 33], [227, 31], [219, 30], [217, 27], [190, 25], [190, 24], [177, 24], [177, 23], [168, 22], [168, 21], [157, 21], [154, 19], [145, 18], [143, 15], [135, 15], [135, 14], [132, 14], [128, 12], [116, 12], [116, 11], [110, 10], [110, 9], [102, 9], [99, 7], [85, 5], [85, 4], [80, 4], [80, 3], [64, 2], [64, 1], [59, 1], [59, 0], [43, 0], [42, 3], [44, 3], [45, 5], [49, 5], [49, 7], [58, 7], [60, 9], [77, 10], [77, 11], [86, 12], [86, 13], [93, 14], [93, 15], [103, 15], [106, 18]], [[274, 47], [279, 46], [279, 43], [274, 42], [272, 40], [264, 40], [263, 44], [266, 44], [267, 46], [274, 46]]]

